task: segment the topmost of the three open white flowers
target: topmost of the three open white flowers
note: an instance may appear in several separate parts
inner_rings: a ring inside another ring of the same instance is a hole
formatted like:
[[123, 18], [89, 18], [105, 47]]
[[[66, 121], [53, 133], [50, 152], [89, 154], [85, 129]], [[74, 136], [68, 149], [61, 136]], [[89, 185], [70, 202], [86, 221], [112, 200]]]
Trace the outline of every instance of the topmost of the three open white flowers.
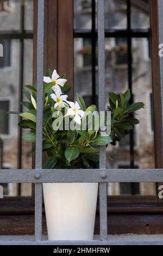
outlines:
[[60, 76], [57, 74], [57, 71], [54, 69], [53, 74], [52, 74], [52, 78], [49, 76], [44, 76], [43, 77], [43, 82], [45, 83], [53, 83], [53, 87], [52, 89], [54, 90], [54, 92], [58, 92], [61, 94], [61, 89], [60, 86], [64, 86], [64, 84], [67, 82], [66, 79], [62, 79], [59, 78]]

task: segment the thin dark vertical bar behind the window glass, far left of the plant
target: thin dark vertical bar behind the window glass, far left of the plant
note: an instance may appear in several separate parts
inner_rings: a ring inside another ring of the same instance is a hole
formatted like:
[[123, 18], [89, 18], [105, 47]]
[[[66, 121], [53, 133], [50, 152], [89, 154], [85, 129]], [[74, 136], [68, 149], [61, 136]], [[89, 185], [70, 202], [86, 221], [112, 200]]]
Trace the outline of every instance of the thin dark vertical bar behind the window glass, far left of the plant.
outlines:
[[[21, 34], [24, 34], [24, 1], [21, 2]], [[23, 94], [22, 94], [22, 87], [23, 87], [23, 71], [24, 71], [24, 38], [23, 36], [20, 39], [20, 84], [18, 90], [18, 102], [22, 102]], [[23, 111], [23, 106], [19, 103], [18, 110], [20, 112]], [[20, 122], [22, 118], [18, 115], [18, 121]], [[22, 128], [18, 127], [18, 151], [17, 151], [17, 169], [22, 168]], [[21, 184], [17, 184], [17, 195], [21, 196]]]

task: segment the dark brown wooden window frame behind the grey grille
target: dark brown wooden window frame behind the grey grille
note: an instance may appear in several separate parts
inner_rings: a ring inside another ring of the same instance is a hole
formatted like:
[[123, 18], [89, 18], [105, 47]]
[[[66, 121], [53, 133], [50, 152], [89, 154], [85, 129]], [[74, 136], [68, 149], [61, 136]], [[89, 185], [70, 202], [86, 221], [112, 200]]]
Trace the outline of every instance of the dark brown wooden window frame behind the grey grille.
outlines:
[[[150, 2], [155, 163], [156, 168], [162, 168], [162, 141], [161, 135], [158, 136], [162, 120], [157, 13], [156, 1]], [[34, 82], [36, 81], [36, 32], [37, 1], [34, 1]], [[46, 0], [44, 50], [45, 72], [48, 68], [56, 68], [59, 74], [66, 72], [68, 83], [73, 83], [73, 0]], [[70, 96], [73, 98], [73, 92]], [[34, 195], [7, 198], [0, 203], [0, 235], [34, 234]], [[161, 234], [163, 233], [163, 226], [160, 225], [163, 222], [162, 212], [163, 203], [157, 196], [110, 196], [108, 197], [108, 232], [109, 234]], [[45, 214], [43, 214], [43, 233], [46, 233]], [[98, 203], [95, 233], [99, 234]]]

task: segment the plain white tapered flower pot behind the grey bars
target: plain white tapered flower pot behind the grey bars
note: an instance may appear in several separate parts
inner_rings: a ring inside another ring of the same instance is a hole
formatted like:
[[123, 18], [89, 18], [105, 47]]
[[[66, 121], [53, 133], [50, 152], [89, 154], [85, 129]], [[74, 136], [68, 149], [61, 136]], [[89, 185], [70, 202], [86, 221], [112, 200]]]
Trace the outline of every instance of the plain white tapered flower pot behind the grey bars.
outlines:
[[49, 240], [93, 240], [98, 183], [44, 183]]

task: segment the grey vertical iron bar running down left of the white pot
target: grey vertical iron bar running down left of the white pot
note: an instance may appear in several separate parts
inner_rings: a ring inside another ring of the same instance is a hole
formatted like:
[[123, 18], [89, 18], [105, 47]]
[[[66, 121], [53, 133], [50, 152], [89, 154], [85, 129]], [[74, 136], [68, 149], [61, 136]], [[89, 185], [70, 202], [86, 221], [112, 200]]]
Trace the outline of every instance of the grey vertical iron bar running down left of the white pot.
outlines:
[[[42, 168], [44, 0], [38, 1], [37, 19], [37, 117], [35, 168]], [[42, 236], [42, 184], [35, 184], [35, 240]]]

